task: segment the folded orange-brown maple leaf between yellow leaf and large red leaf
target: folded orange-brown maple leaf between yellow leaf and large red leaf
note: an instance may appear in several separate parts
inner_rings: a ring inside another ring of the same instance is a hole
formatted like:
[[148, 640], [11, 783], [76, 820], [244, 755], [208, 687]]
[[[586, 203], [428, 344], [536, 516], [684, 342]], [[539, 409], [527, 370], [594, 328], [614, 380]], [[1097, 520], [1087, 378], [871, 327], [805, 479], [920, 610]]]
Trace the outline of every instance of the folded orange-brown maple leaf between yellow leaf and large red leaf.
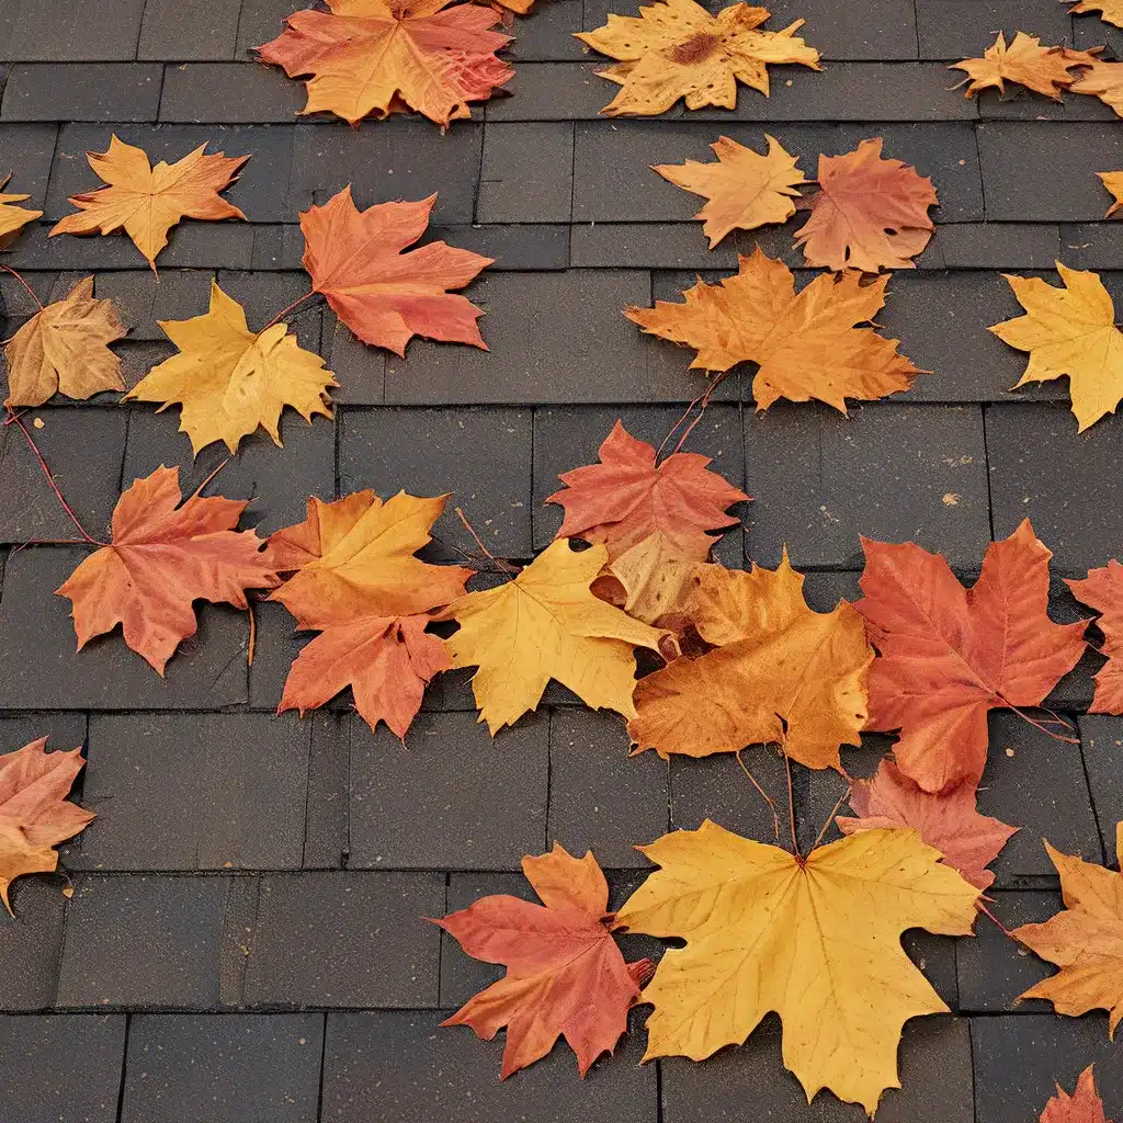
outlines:
[[812, 611], [786, 551], [775, 570], [699, 566], [693, 583], [684, 612], [716, 650], [637, 683], [638, 749], [703, 757], [777, 741], [810, 768], [840, 767], [839, 746], [861, 743], [874, 658], [853, 606]]

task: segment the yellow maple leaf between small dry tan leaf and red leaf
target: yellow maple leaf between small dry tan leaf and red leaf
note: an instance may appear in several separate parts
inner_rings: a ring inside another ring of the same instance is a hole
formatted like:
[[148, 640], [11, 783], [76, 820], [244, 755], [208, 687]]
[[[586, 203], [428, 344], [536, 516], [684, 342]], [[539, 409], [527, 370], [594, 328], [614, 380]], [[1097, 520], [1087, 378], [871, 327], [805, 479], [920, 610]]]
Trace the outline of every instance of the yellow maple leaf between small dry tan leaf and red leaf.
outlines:
[[280, 447], [285, 405], [309, 423], [316, 413], [331, 417], [328, 389], [339, 383], [323, 359], [301, 348], [284, 323], [250, 331], [245, 310], [217, 281], [204, 314], [159, 326], [180, 354], [154, 366], [125, 401], [159, 402], [161, 410], [180, 403], [180, 432], [197, 456], [217, 440], [236, 453], [258, 427]]

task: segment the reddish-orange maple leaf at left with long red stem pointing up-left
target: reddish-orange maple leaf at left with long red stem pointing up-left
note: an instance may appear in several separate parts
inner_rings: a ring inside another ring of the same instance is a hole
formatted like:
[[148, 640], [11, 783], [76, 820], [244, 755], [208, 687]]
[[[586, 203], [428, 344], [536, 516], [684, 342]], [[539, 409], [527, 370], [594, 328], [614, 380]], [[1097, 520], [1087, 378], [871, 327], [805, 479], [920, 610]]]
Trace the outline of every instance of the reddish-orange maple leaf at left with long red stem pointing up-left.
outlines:
[[164, 667], [195, 633], [194, 601], [248, 608], [247, 588], [279, 584], [252, 530], [237, 531], [247, 503], [198, 494], [183, 500], [180, 469], [163, 465], [137, 480], [113, 509], [113, 541], [66, 578], [77, 648], [122, 626], [125, 642], [153, 668]]

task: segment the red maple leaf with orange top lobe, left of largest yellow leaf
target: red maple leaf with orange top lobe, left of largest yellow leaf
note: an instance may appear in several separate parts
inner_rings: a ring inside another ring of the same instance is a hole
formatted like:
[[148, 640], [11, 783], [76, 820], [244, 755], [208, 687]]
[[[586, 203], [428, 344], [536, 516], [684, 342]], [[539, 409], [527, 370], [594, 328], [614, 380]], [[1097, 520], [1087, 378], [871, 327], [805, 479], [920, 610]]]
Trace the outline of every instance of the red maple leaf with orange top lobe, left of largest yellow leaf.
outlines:
[[541, 905], [495, 895], [435, 921], [473, 958], [506, 967], [440, 1024], [471, 1025], [485, 1041], [505, 1025], [502, 1078], [540, 1060], [564, 1035], [584, 1076], [627, 1029], [651, 964], [624, 962], [592, 851], [577, 859], [555, 842], [549, 853], [523, 858], [522, 873]]

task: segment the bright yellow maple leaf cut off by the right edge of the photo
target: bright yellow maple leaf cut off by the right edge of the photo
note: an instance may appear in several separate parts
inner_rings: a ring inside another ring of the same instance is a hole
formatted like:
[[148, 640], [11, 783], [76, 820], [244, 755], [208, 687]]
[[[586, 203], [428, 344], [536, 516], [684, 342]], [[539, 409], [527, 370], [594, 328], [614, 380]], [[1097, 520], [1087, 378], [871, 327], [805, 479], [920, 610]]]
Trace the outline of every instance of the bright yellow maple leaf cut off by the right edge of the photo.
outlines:
[[990, 330], [1004, 343], [1030, 353], [1015, 385], [1049, 382], [1066, 375], [1072, 412], [1084, 432], [1123, 399], [1123, 334], [1115, 327], [1112, 298], [1099, 275], [1057, 263], [1063, 289], [1040, 277], [1004, 273], [1025, 316]]

